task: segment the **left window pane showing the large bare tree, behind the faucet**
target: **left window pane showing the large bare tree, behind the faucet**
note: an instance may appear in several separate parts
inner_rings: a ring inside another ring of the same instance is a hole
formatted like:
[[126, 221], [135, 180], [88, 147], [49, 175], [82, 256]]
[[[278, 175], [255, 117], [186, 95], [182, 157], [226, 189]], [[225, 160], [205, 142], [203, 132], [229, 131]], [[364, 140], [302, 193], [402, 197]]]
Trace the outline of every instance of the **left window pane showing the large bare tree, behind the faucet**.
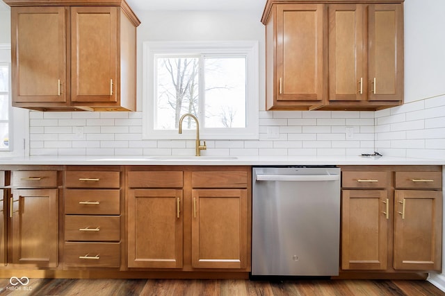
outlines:
[[[181, 114], [198, 114], [199, 58], [156, 58], [156, 130], [178, 127]], [[195, 126], [188, 117], [184, 128]]]

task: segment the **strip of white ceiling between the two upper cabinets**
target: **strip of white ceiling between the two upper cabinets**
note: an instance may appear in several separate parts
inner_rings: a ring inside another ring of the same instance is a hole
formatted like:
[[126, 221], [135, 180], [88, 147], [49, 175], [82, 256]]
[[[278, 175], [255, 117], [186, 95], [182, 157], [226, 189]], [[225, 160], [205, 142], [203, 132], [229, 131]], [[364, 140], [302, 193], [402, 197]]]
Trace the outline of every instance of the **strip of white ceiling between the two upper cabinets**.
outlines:
[[127, 0], [133, 10], [254, 10], [266, 0]]

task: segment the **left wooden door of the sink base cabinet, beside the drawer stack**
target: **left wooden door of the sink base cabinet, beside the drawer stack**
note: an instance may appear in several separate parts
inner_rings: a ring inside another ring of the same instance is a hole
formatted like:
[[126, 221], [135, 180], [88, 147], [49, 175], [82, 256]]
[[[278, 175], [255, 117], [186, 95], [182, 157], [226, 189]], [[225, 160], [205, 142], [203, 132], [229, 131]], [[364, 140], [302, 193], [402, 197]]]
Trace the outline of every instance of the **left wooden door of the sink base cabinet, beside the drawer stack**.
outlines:
[[183, 209], [181, 189], [129, 190], [129, 268], [182, 268]]

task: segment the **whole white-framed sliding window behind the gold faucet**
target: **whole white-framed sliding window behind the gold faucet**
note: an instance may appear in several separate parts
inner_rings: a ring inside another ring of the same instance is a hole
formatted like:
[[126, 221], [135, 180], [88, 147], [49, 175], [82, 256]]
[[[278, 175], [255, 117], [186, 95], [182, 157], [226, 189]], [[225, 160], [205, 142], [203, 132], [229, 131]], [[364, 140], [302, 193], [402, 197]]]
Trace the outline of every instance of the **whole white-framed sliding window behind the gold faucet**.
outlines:
[[146, 139], [258, 138], [258, 42], [145, 42]]

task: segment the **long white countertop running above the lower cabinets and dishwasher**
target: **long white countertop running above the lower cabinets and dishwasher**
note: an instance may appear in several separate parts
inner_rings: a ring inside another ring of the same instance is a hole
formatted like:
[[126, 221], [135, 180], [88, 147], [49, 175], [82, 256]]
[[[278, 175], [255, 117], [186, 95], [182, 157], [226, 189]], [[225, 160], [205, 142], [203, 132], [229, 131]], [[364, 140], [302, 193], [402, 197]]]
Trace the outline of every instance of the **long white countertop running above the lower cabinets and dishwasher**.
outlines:
[[445, 159], [361, 156], [31, 156], [0, 157], [0, 165], [445, 165]]

